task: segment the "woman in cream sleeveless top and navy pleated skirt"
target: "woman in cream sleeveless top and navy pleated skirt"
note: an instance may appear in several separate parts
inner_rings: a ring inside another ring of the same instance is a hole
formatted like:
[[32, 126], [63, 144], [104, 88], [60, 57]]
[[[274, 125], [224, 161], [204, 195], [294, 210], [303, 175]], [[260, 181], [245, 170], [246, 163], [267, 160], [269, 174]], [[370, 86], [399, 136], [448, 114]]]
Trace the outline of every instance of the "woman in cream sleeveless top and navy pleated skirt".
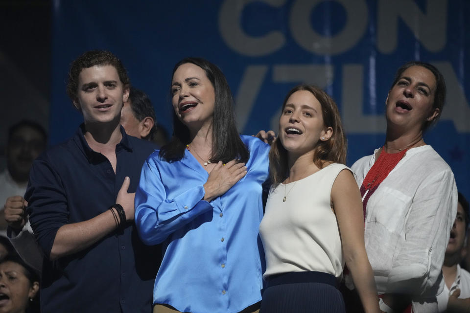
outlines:
[[273, 186], [259, 226], [267, 281], [260, 312], [345, 312], [337, 290], [345, 262], [366, 311], [379, 312], [361, 198], [344, 165], [346, 138], [323, 90], [290, 90], [269, 159]]

